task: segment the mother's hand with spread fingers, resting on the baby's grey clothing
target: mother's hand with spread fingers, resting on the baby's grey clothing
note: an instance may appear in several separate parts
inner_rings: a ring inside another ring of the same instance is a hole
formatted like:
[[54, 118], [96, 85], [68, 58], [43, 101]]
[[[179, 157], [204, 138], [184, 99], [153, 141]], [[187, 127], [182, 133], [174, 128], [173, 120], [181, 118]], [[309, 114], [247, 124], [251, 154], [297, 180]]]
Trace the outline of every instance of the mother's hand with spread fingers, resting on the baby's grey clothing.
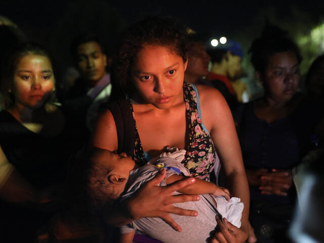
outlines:
[[158, 186], [166, 176], [166, 170], [163, 169], [152, 180], [148, 181], [144, 187], [133, 198], [128, 201], [127, 207], [133, 219], [143, 217], [159, 217], [165, 220], [175, 230], [181, 231], [181, 227], [174, 221], [170, 214], [182, 216], [197, 216], [193, 210], [185, 210], [175, 207], [175, 203], [184, 203], [186, 201], [197, 201], [197, 195], [173, 195], [173, 192], [182, 187], [195, 182], [194, 178], [187, 178], [177, 181], [168, 186]]

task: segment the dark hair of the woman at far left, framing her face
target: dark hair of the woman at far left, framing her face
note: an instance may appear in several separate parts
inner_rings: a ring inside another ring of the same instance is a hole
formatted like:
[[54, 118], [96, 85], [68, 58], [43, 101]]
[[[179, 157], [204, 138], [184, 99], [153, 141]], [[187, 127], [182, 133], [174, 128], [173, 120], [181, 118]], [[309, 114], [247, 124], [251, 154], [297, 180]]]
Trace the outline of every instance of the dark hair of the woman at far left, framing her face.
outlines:
[[39, 55], [47, 57], [51, 61], [55, 76], [55, 70], [51, 55], [45, 47], [32, 42], [17, 44], [15, 47], [9, 50], [4, 61], [4, 73], [1, 82], [2, 105], [4, 106], [3, 108], [9, 108], [14, 104], [15, 97], [12, 92], [9, 92], [9, 90], [12, 88], [14, 82], [14, 72], [17, 64], [19, 63], [21, 58], [27, 55]]

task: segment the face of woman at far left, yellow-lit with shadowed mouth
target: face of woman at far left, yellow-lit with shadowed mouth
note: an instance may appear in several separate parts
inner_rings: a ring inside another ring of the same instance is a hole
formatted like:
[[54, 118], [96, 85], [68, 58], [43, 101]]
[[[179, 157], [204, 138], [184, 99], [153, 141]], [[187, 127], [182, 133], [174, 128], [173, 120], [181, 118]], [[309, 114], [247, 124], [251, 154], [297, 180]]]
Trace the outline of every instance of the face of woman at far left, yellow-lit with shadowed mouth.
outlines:
[[45, 56], [26, 55], [17, 63], [12, 92], [18, 107], [42, 106], [54, 88], [54, 73]]

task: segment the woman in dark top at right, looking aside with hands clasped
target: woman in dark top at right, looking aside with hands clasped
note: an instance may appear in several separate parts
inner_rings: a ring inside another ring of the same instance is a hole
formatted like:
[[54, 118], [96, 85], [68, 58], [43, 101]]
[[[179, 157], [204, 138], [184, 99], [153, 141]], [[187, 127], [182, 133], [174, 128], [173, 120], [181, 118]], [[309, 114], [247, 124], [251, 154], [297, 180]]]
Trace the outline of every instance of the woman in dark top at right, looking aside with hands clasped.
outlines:
[[264, 96], [233, 112], [250, 186], [250, 222], [258, 242], [289, 242], [295, 201], [291, 170], [307, 152], [313, 113], [298, 94], [301, 56], [276, 26], [255, 39], [251, 61]]

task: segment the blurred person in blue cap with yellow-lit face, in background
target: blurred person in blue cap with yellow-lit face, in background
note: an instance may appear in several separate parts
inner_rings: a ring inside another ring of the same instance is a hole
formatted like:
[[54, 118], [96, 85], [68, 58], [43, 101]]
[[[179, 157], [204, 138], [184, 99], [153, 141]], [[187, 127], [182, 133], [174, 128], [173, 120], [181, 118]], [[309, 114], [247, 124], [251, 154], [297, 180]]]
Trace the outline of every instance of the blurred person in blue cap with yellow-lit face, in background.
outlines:
[[202, 83], [218, 89], [233, 110], [238, 101], [231, 82], [235, 82], [241, 75], [243, 51], [238, 43], [227, 40], [225, 44], [209, 48], [207, 53], [211, 57], [212, 68]]

